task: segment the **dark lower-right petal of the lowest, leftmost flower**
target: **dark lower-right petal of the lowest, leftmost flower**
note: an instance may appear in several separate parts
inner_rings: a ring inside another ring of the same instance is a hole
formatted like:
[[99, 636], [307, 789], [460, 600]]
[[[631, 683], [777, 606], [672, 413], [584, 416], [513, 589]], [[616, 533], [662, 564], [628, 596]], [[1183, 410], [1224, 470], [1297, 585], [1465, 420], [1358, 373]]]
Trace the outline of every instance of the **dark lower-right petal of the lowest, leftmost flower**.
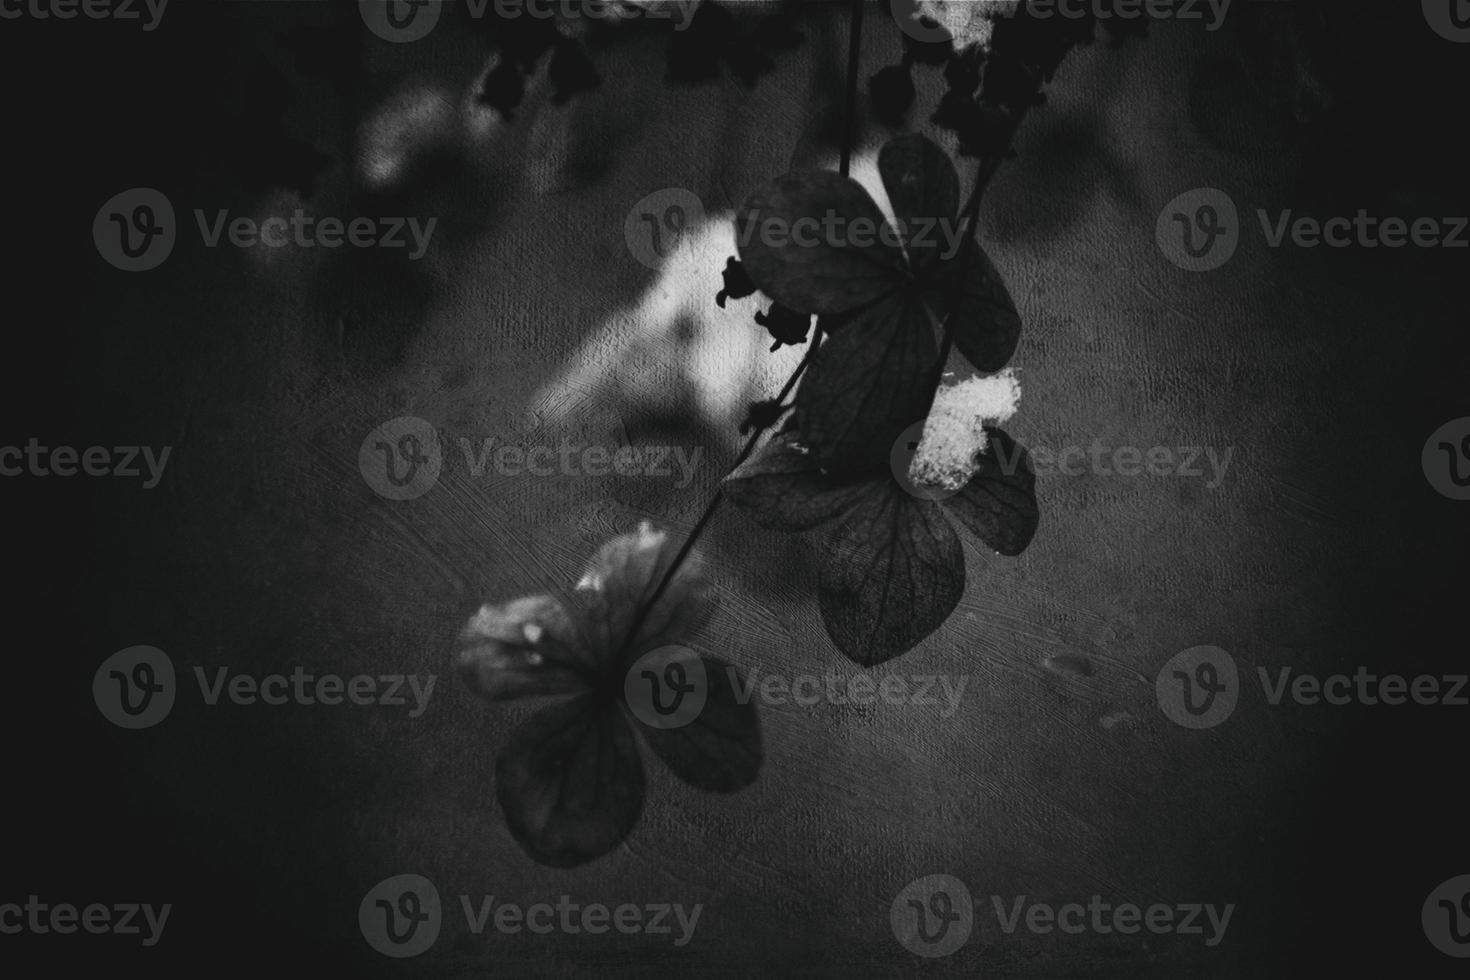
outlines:
[[760, 774], [764, 749], [756, 705], [741, 701], [736, 685], [744, 683], [723, 660], [700, 657], [704, 664], [704, 705], [678, 727], [653, 727], [637, 723], [648, 748], [673, 774], [695, 789], [732, 793]]

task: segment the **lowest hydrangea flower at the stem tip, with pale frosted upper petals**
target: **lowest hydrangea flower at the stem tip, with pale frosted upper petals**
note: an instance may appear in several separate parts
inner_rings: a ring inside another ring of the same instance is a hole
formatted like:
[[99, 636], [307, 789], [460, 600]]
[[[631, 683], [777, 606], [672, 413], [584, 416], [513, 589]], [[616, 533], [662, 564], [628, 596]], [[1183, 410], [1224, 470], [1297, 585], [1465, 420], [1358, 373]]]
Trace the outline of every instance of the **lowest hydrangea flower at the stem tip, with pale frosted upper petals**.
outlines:
[[[667, 535], [645, 523], [606, 544], [566, 601], [487, 604], [465, 626], [456, 667], [472, 691], [490, 701], [559, 698], [516, 729], [495, 760], [495, 796], [510, 833], [541, 864], [584, 864], [632, 832], [644, 802], [635, 730], [697, 789], [734, 792], [760, 771], [760, 726], [754, 705], [735, 696], [738, 674], [681, 646], [714, 608], [698, 557], [691, 554], [648, 605], [672, 563]], [[648, 723], [648, 698], [637, 696], [638, 674], [664, 649], [685, 651], [676, 676], [698, 707], [694, 717], [657, 727]], [[697, 692], [684, 680], [685, 666]]]

